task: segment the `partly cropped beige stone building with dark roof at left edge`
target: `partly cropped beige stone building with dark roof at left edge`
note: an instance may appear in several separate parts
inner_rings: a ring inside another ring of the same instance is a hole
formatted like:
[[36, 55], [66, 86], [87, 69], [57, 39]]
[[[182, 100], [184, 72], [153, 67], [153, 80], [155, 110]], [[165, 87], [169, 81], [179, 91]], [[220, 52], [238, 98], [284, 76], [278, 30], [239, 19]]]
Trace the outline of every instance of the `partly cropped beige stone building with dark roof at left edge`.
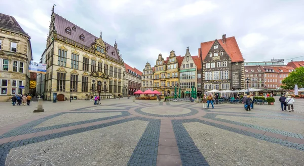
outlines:
[[31, 60], [30, 36], [14, 17], [0, 13], [0, 102], [29, 93]]

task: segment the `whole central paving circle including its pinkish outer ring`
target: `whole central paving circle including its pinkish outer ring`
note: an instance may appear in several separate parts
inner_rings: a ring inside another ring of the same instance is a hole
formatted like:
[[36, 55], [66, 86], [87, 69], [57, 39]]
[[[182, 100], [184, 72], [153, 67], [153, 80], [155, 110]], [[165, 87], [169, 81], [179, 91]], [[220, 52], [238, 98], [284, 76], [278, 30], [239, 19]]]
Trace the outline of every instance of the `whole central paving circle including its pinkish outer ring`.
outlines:
[[191, 116], [198, 113], [197, 110], [192, 108], [172, 107], [172, 106], [141, 107], [135, 109], [135, 112], [142, 115], [157, 116], [157, 117]]

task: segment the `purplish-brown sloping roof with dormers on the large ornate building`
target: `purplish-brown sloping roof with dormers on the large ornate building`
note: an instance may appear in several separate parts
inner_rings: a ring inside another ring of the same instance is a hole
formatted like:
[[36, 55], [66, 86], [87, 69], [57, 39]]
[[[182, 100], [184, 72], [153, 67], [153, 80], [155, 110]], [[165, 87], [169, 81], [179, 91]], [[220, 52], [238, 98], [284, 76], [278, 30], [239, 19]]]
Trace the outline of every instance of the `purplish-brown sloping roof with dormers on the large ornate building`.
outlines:
[[[58, 14], [54, 13], [55, 15], [55, 29], [57, 31], [57, 34], [64, 36], [72, 41], [75, 41], [77, 43], [83, 44], [89, 48], [92, 47], [92, 43], [95, 43], [95, 40], [97, 40], [98, 38], [92, 34], [90, 34], [88, 31], [84, 30], [83, 28], [73, 24], [72, 22], [66, 20], [65, 18], [59, 16]], [[72, 27], [75, 27], [76, 30], [71, 30], [71, 34], [67, 34], [65, 32], [65, 29], [69, 27], [70, 29], [72, 29]], [[85, 40], [82, 41], [80, 39], [80, 36], [83, 35], [85, 37]], [[104, 41], [103, 41], [104, 42]], [[107, 48], [107, 46], [109, 46], [108, 49], [108, 56], [115, 58], [117, 60], [120, 60], [119, 54], [116, 50], [115, 47], [111, 46], [110, 44], [104, 42], [105, 47]], [[114, 52], [115, 54], [113, 55], [112, 52]]]

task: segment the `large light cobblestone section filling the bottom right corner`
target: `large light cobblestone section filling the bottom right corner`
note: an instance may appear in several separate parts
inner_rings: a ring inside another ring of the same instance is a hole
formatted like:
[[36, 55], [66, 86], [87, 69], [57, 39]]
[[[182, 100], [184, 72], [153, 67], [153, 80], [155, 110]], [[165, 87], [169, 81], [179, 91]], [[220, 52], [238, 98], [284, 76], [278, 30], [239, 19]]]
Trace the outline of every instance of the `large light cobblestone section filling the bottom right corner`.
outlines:
[[304, 165], [304, 152], [202, 124], [183, 123], [210, 165]]

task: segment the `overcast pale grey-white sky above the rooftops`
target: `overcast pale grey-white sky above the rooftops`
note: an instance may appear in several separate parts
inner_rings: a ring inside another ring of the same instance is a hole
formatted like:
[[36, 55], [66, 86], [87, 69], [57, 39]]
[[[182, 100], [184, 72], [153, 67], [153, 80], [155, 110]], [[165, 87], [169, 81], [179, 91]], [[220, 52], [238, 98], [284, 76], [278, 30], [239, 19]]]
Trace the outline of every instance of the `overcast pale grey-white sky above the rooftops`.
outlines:
[[[142, 71], [171, 50], [198, 54], [201, 42], [235, 36], [246, 61], [304, 56], [304, 1], [54, 0], [55, 13], [103, 40]], [[46, 48], [53, 1], [1, 1], [31, 37], [34, 61]], [[304, 60], [304, 57], [294, 60]], [[290, 60], [286, 60], [288, 62]]]

